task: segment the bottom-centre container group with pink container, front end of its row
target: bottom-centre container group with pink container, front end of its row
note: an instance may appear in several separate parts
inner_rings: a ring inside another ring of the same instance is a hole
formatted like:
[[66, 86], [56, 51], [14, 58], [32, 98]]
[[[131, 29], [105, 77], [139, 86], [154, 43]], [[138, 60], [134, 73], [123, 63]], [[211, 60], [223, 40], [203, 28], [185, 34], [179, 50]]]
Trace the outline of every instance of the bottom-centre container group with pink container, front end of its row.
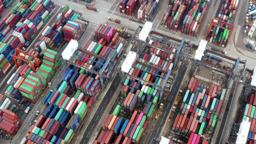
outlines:
[[[119, 109], [117, 105], [116, 109]], [[94, 144], [139, 144], [149, 121], [143, 113], [134, 111], [130, 120], [118, 117], [118, 112], [108, 114], [102, 124], [102, 131]], [[120, 111], [120, 110], [119, 110]]]

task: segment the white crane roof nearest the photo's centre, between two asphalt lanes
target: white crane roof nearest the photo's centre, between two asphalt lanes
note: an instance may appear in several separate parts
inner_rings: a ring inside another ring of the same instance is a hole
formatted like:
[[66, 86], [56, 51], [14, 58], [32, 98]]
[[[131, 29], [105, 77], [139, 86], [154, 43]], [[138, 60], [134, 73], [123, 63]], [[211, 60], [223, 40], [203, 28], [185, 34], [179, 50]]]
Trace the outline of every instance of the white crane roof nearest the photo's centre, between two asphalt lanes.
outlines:
[[131, 65], [133, 64], [135, 59], [136, 59], [136, 52], [130, 51], [128, 53], [128, 55], [126, 56], [126, 59], [125, 59], [125, 61], [123, 62], [122, 66], [121, 66], [122, 72], [128, 73], [129, 70], [131, 69]]

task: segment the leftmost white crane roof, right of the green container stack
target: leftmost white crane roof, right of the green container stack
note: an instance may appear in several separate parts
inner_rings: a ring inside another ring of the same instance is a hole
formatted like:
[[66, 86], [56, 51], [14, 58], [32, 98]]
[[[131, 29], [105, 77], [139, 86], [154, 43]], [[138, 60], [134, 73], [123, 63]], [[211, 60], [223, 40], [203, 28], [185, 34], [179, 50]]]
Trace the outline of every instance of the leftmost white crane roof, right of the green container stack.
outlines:
[[78, 48], [78, 42], [74, 39], [71, 39], [69, 44], [66, 46], [66, 48], [61, 53], [62, 58], [69, 60], [77, 48]]

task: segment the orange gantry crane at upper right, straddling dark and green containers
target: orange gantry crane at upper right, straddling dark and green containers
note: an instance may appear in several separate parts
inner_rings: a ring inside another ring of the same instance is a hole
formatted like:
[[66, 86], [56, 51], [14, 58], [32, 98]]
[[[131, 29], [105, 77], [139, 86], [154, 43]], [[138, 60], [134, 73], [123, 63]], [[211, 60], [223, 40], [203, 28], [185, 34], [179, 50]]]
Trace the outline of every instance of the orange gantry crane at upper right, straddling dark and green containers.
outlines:
[[[220, 23], [221, 25], [230, 26], [231, 29], [227, 29], [226, 27], [219, 26], [218, 23]], [[234, 29], [234, 25], [213, 18], [212, 21], [210, 22], [209, 27], [208, 27], [208, 30], [207, 30], [205, 39], [207, 39], [207, 36], [208, 36], [208, 34], [210, 33], [210, 30], [211, 30], [211, 27], [212, 27], [212, 26], [218, 26], [218, 27], [220, 27], [220, 28], [222, 28], [222, 29], [226, 29], [226, 30], [229, 30], [229, 31], [230, 31], [230, 35], [229, 35], [229, 37], [228, 37], [228, 39], [227, 39], [227, 41], [226, 41], [226, 43], [228, 43], [229, 40], [230, 40], [230, 37], [231, 37], [231, 35], [232, 35], [233, 29]]]

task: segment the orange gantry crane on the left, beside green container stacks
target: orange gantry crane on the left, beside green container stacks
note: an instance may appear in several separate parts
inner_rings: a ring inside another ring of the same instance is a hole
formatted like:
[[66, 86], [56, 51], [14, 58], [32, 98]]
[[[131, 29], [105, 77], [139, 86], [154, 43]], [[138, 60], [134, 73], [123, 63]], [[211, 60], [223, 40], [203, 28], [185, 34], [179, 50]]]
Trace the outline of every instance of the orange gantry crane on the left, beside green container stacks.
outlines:
[[35, 56], [33, 56], [32, 54], [30, 54], [30, 53], [28, 53], [28, 52], [25, 52], [25, 51], [23, 51], [23, 50], [17, 49], [17, 48], [14, 49], [14, 51], [15, 51], [16, 55], [15, 55], [15, 54], [11, 54], [11, 56], [13, 57], [13, 61], [15, 62], [17, 69], [18, 69], [19, 66], [20, 66], [19, 63], [17, 62], [17, 60], [20, 59], [22, 62], [25, 61], [25, 62], [30, 63], [31, 69], [32, 69], [34, 72], [36, 72], [36, 69], [35, 69], [33, 63], [32, 63], [31, 61], [25, 59], [26, 56], [32, 57], [32, 58], [35, 60], [35, 65], [36, 65], [37, 67], [39, 67], [39, 62], [36, 60], [36, 57], [35, 57]]

